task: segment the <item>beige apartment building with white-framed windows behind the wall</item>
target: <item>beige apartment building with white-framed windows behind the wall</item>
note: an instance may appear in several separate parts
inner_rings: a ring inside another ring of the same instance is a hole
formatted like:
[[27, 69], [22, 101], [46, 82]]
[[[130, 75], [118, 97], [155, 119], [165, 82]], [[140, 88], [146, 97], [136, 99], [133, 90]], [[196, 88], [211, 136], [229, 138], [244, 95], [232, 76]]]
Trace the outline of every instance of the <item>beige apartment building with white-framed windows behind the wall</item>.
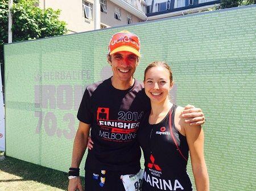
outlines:
[[[100, 28], [122, 26], [143, 22], [146, 2], [144, 0], [95, 0], [100, 1]], [[97, 11], [93, 0], [39, 0], [41, 9], [60, 9], [60, 20], [67, 23], [69, 33], [90, 31], [94, 29]]]

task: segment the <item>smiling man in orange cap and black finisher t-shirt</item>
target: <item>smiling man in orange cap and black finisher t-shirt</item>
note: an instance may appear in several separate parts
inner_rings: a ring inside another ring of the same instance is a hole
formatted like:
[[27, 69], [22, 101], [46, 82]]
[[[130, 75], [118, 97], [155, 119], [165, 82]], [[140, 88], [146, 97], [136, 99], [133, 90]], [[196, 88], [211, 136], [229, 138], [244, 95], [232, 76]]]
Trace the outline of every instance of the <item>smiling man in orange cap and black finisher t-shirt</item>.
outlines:
[[[142, 83], [133, 78], [139, 64], [140, 41], [128, 31], [110, 38], [108, 63], [113, 76], [86, 87], [77, 118], [68, 190], [82, 190], [79, 166], [88, 143], [94, 142], [85, 163], [85, 190], [125, 190], [122, 175], [134, 175], [141, 165], [141, 149], [136, 132], [144, 112], [150, 111], [150, 101]], [[201, 109], [188, 106], [184, 117], [191, 124], [203, 124]]]

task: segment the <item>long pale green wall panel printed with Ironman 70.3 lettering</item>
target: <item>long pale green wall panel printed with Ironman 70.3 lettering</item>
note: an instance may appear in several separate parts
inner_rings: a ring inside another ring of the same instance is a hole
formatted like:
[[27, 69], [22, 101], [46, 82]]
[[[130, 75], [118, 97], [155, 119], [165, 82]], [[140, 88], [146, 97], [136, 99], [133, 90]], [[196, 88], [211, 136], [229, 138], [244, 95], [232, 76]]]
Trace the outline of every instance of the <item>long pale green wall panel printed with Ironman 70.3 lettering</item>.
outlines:
[[84, 88], [110, 77], [109, 38], [127, 29], [141, 39], [135, 78], [167, 61], [173, 101], [203, 109], [211, 190], [256, 190], [255, 20], [243, 6], [5, 45], [6, 154], [68, 171]]

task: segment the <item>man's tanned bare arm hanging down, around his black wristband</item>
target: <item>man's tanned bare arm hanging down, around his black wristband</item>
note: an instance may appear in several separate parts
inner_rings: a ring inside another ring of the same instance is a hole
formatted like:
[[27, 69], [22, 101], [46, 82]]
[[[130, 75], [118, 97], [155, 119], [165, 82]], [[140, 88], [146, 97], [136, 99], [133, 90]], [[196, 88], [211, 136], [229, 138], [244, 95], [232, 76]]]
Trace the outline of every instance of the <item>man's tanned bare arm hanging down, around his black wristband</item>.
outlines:
[[[85, 124], [84, 122], [79, 122], [79, 128], [76, 132], [76, 137], [73, 144], [73, 153], [72, 153], [72, 168], [79, 168], [82, 156], [84, 156], [84, 152], [86, 149], [86, 145], [88, 142], [88, 137], [90, 133], [90, 124]], [[79, 189], [82, 191], [82, 184], [80, 177], [75, 177], [69, 180], [68, 191], [74, 191]]]

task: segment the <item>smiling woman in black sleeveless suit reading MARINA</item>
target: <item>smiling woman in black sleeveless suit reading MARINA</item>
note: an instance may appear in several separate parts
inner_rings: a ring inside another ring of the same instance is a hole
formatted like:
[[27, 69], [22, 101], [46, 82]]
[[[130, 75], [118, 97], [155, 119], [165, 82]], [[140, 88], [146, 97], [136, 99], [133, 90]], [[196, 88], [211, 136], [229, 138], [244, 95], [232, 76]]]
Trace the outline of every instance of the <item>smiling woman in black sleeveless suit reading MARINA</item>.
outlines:
[[142, 191], [193, 190], [186, 172], [188, 151], [196, 190], [208, 191], [204, 133], [201, 126], [189, 126], [181, 118], [183, 108], [171, 103], [168, 93], [173, 84], [165, 62], [152, 62], [144, 71], [151, 111], [144, 116], [137, 137], [145, 160]]

